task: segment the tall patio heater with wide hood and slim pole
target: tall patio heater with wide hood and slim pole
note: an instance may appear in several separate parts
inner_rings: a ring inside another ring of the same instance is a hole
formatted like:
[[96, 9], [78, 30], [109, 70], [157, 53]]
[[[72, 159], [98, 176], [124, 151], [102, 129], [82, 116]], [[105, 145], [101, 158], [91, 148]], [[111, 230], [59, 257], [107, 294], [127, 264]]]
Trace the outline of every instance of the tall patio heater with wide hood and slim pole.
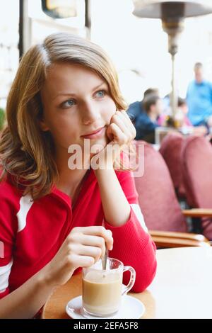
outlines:
[[168, 35], [168, 52], [172, 57], [172, 92], [170, 106], [172, 123], [177, 112], [177, 91], [175, 84], [175, 55], [179, 34], [184, 29], [184, 18], [212, 13], [212, 1], [208, 0], [133, 0], [135, 16], [141, 18], [161, 18], [162, 26]]

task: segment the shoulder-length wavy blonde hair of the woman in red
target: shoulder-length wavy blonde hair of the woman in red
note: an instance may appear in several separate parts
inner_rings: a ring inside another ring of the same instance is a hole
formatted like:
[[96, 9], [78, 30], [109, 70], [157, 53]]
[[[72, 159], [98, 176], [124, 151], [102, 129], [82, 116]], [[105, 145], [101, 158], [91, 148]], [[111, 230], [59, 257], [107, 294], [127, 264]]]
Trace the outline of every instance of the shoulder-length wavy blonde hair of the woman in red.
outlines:
[[126, 110], [119, 91], [117, 72], [101, 47], [78, 35], [54, 33], [42, 44], [30, 47], [23, 55], [8, 94], [7, 125], [1, 135], [1, 180], [6, 174], [13, 184], [30, 193], [33, 200], [51, 192], [58, 179], [54, 160], [54, 142], [50, 132], [43, 132], [40, 90], [47, 69], [57, 62], [81, 64], [104, 79], [117, 110]]

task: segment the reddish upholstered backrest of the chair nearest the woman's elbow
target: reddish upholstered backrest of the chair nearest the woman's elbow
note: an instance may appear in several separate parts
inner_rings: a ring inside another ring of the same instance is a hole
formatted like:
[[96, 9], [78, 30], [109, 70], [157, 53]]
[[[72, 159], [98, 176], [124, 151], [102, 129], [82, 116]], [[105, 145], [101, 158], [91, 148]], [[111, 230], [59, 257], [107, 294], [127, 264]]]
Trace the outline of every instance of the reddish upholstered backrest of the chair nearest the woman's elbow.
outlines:
[[148, 229], [186, 232], [187, 223], [163, 157], [148, 143], [136, 141], [139, 144], [144, 145], [144, 174], [135, 177], [135, 184]]

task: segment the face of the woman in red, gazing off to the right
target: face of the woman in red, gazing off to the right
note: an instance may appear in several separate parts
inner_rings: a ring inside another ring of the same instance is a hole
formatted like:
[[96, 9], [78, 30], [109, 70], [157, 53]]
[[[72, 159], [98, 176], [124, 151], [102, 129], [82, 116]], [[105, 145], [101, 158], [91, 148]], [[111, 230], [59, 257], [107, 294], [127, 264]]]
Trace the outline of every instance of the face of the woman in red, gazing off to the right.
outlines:
[[[57, 151], [68, 152], [72, 144], [83, 147], [85, 138], [90, 139], [90, 147], [107, 145], [106, 128], [116, 106], [107, 83], [98, 74], [79, 64], [54, 64], [47, 73], [41, 98], [41, 127], [52, 133]], [[100, 132], [88, 136], [100, 128]]]

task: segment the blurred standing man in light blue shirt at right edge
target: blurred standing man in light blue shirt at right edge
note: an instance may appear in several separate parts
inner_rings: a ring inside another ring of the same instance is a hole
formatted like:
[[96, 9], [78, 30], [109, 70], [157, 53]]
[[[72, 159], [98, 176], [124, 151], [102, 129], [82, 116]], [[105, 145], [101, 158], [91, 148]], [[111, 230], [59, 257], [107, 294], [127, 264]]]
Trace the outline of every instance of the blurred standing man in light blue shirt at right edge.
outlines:
[[212, 116], [212, 83], [206, 81], [203, 75], [203, 65], [194, 65], [195, 79], [187, 89], [188, 117], [194, 126], [209, 126]]

